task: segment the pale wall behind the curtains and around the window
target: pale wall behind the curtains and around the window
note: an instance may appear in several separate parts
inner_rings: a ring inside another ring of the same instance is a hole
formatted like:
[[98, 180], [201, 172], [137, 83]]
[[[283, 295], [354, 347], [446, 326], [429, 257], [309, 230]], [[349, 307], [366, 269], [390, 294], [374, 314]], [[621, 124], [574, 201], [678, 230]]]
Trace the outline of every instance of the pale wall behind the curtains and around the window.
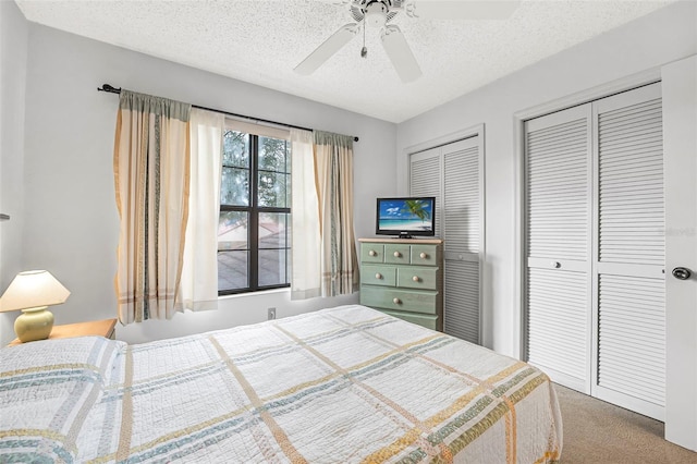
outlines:
[[[396, 127], [392, 123], [245, 84], [142, 53], [29, 24], [22, 266], [50, 270], [72, 294], [53, 309], [57, 323], [115, 315], [118, 242], [112, 150], [118, 87], [235, 113], [348, 135], [354, 145], [357, 236], [371, 235], [375, 197], [393, 194]], [[4, 63], [3, 63], [4, 64]], [[3, 65], [4, 68], [4, 65]], [[117, 326], [129, 342], [266, 320], [357, 301], [357, 295], [291, 302], [286, 291], [221, 300], [208, 313]], [[0, 340], [5, 343], [9, 340]]]

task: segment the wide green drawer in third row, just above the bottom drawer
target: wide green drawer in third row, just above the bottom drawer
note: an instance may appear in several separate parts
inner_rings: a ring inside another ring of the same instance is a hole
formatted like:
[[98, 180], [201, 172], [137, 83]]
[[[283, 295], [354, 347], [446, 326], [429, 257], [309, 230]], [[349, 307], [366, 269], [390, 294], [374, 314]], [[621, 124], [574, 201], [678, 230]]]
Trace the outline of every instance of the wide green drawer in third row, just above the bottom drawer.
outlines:
[[396, 290], [384, 286], [360, 286], [360, 304], [384, 309], [411, 313], [438, 314], [438, 292]]

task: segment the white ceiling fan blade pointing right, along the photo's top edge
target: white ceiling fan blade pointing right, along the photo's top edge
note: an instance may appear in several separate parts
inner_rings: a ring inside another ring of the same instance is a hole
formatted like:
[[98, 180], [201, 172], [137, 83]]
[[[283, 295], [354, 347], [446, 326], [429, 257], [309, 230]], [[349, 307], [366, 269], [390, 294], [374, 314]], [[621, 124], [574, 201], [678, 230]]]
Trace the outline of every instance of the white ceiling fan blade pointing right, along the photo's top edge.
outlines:
[[425, 20], [505, 20], [519, 5], [519, 0], [414, 0], [405, 11]]

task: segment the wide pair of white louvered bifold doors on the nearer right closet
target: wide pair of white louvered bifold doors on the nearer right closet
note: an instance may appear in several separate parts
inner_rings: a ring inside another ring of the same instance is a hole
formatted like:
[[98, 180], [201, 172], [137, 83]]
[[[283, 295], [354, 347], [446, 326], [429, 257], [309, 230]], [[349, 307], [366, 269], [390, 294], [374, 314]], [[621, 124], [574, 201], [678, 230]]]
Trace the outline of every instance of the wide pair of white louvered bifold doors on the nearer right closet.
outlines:
[[660, 84], [526, 122], [526, 354], [552, 380], [664, 419]]

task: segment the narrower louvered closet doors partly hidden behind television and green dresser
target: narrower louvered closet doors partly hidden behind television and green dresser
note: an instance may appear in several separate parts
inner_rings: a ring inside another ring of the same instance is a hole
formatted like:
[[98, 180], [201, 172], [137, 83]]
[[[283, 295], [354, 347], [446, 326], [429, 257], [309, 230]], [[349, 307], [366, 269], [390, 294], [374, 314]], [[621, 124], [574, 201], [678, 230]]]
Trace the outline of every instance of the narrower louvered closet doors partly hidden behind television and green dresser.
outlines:
[[484, 249], [480, 138], [414, 154], [409, 167], [411, 195], [436, 196], [436, 233], [444, 241], [443, 331], [479, 344]]

